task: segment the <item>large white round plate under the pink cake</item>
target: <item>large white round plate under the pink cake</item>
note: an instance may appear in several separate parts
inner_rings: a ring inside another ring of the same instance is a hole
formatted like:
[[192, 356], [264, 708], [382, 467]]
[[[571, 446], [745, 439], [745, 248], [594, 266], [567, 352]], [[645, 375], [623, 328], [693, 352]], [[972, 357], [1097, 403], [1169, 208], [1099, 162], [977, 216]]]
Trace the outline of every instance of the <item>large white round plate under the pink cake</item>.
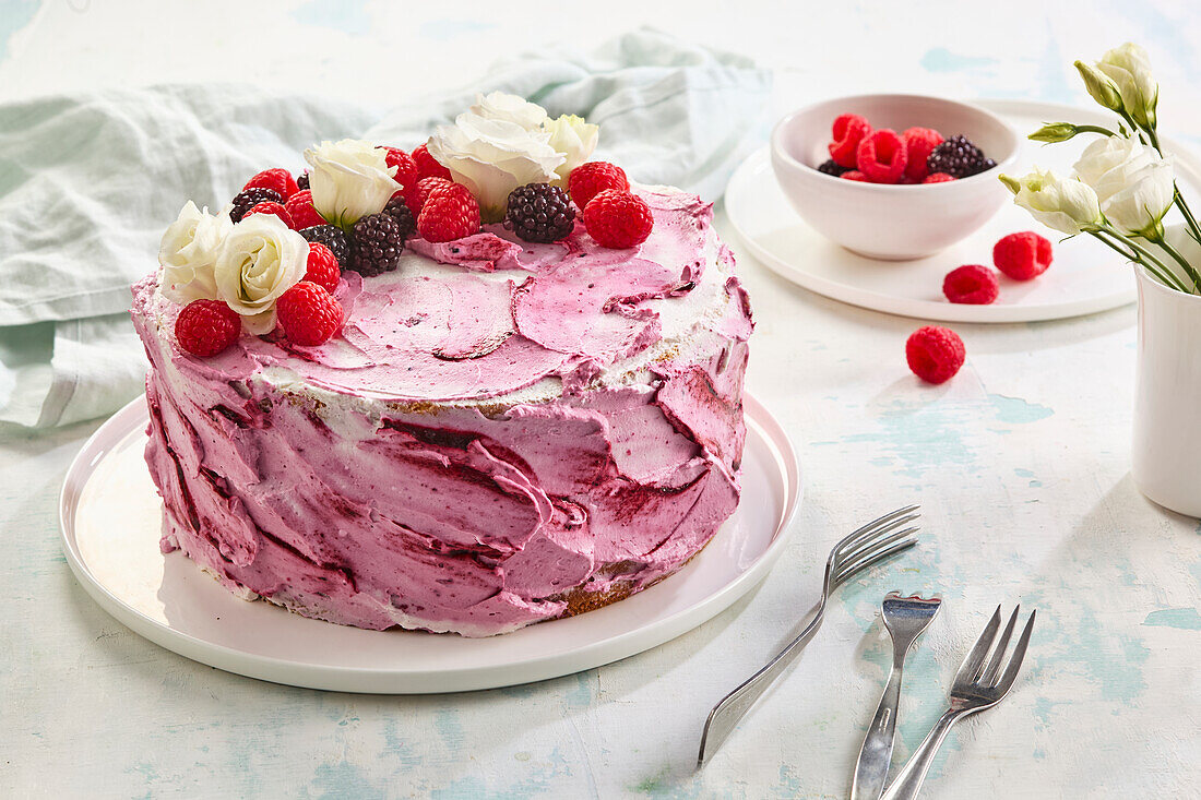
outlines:
[[143, 460], [145, 398], [106, 422], [62, 485], [62, 550], [106, 611], [193, 661], [340, 692], [461, 692], [591, 669], [691, 631], [753, 589], [783, 551], [801, 500], [784, 430], [753, 398], [742, 501], [675, 575], [594, 611], [488, 639], [363, 631], [234, 597], [180, 553], [159, 551], [162, 502]]

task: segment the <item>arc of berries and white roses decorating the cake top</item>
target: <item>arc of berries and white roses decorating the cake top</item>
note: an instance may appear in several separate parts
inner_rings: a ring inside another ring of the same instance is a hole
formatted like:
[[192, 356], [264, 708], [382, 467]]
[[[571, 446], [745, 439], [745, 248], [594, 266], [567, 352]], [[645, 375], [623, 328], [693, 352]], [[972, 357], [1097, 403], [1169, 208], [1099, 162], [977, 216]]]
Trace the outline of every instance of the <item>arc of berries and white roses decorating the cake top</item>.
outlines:
[[637, 247], [655, 219], [620, 167], [588, 162], [598, 138], [580, 117], [496, 91], [412, 153], [322, 142], [304, 174], [264, 169], [219, 214], [189, 201], [159, 251], [162, 294], [181, 306], [175, 340], [202, 358], [240, 335], [318, 347], [345, 321], [341, 273], [392, 271], [414, 237], [456, 241], [503, 222], [528, 243]]

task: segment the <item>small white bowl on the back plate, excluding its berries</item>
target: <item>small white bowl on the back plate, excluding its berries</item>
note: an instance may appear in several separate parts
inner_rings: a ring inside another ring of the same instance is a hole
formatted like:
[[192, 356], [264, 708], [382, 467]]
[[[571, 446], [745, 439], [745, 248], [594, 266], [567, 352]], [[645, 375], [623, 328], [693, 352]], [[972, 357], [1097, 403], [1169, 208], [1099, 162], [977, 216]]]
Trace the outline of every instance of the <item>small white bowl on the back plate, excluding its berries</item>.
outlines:
[[[818, 172], [839, 114], [860, 114], [873, 130], [900, 136], [932, 127], [962, 133], [997, 166], [942, 184], [889, 185]], [[997, 175], [1017, 157], [1018, 135], [982, 108], [922, 95], [858, 95], [784, 117], [771, 133], [771, 166], [796, 213], [824, 237], [870, 258], [908, 261], [949, 247], [987, 222], [1009, 196]]]

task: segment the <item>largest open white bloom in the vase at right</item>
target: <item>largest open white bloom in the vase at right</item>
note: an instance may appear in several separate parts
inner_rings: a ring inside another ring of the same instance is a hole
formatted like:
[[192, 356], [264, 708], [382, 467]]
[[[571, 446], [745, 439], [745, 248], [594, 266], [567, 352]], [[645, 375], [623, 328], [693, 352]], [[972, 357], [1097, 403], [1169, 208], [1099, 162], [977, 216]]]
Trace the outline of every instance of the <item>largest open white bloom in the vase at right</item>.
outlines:
[[1176, 196], [1171, 162], [1134, 138], [1093, 142], [1074, 169], [1097, 192], [1105, 219], [1125, 234], [1154, 235]]

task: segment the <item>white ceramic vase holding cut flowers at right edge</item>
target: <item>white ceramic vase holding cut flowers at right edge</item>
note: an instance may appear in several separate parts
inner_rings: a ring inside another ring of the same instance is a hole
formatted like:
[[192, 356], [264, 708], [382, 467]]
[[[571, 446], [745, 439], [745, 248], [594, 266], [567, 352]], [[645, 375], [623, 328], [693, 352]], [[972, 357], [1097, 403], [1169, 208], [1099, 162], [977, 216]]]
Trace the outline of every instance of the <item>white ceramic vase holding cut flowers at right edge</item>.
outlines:
[[[1167, 239], [1201, 269], [1201, 246], [1183, 226], [1170, 228]], [[1160, 506], [1201, 518], [1201, 297], [1171, 289], [1141, 267], [1135, 270], [1134, 482]], [[1175, 271], [1183, 277], [1183, 270]]]

